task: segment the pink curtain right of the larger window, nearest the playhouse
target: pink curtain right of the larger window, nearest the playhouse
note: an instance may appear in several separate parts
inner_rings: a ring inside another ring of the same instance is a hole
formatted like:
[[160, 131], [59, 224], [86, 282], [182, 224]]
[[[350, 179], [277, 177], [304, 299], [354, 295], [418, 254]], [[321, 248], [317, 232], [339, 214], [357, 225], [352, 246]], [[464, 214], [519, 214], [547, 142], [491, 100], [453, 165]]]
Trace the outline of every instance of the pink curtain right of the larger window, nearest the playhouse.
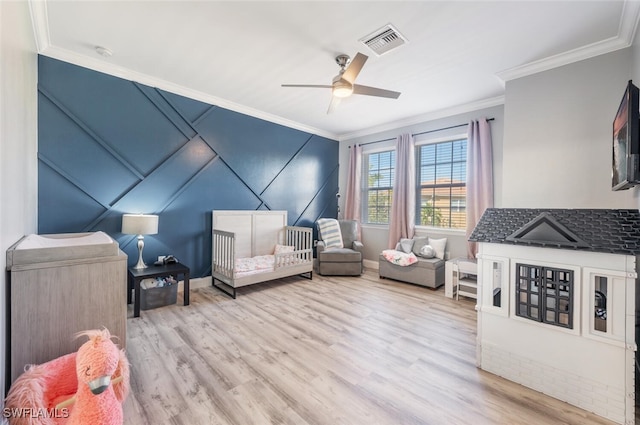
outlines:
[[[469, 123], [467, 141], [467, 239], [487, 208], [493, 207], [493, 156], [491, 127], [486, 118]], [[467, 256], [476, 258], [478, 247], [467, 242]]]

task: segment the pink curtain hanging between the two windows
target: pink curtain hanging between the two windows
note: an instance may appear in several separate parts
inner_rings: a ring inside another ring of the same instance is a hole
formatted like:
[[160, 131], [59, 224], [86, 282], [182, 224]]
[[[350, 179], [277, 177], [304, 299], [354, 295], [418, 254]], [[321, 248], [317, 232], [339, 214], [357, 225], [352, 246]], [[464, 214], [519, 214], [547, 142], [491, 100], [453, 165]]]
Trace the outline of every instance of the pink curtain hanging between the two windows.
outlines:
[[416, 216], [415, 176], [413, 136], [402, 134], [396, 141], [395, 182], [389, 217], [389, 248], [395, 248], [401, 238], [413, 237]]

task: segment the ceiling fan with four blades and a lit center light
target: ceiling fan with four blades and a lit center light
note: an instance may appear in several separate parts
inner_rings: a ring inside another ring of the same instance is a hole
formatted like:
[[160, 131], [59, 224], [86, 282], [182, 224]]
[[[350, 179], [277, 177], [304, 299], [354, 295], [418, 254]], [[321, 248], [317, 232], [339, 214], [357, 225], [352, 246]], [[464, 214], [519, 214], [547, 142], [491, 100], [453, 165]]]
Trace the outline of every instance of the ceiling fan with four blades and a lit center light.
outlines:
[[336, 63], [340, 66], [340, 73], [333, 77], [331, 85], [315, 85], [315, 84], [282, 84], [282, 87], [311, 87], [311, 88], [326, 88], [331, 89], [331, 103], [327, 114], [331, 113], [333, 109], [338, 106], [340, 101], [345, 97], [349, 97], [352, 94], [363, 94], [366, 96], [378, 96], [387, 97], [390, 99], [397, 99], [400, 96], [400, 92], [379, 89], [376, 87], [362, 86], [355, 84], [356, 77], [362, 70], [365, 62], [369, 57], [362, 53], [356, 54], [353, 60], [348, 55], [336, 56]]

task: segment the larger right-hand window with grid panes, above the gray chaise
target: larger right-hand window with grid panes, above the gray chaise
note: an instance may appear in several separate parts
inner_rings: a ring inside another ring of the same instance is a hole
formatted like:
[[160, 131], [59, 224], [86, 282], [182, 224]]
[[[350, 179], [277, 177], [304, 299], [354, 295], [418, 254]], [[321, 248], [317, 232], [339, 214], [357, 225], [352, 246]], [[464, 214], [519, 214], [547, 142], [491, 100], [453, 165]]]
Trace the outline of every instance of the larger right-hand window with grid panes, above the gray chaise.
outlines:
[[467, 226], [467, 140], [421, 145], [418, 151], [416, 224]]

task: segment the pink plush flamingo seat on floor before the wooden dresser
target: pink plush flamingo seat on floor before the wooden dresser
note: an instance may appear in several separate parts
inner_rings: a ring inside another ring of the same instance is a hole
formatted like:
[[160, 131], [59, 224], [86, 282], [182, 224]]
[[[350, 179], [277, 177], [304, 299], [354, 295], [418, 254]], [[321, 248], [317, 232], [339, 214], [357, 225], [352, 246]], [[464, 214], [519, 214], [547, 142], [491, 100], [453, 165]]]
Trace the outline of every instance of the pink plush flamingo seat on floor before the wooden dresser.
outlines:
[[[122, 425], [129, 362], [109, 331], [91, 330], [77, 353], [31, 366], [9, 390], [11, 425]], [[117, 383], [112, 383], [116, 380]]]

